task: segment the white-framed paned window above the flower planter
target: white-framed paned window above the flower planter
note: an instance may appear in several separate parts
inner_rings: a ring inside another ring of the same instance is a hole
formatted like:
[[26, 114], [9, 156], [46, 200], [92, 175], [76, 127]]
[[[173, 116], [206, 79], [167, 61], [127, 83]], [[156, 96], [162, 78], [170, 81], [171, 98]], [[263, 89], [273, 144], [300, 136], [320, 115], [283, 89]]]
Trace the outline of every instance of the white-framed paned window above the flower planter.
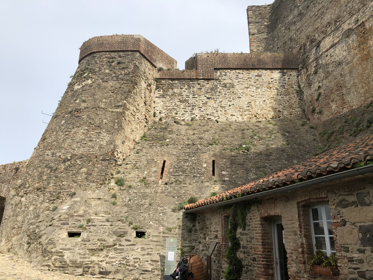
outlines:
[[310, 217], [314, 252], [321, 250], [330, 256], [335, 253], [335, 245], [329, 204], [311, 206]]

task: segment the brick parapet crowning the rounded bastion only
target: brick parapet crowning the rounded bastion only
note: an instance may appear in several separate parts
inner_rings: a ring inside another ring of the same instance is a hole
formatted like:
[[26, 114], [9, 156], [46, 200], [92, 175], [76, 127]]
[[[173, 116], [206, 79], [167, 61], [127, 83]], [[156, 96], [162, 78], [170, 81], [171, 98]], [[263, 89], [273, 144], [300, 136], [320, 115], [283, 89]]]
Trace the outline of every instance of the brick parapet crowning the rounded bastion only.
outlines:
[[177, 67], [175, 59], [141, 35], [110, 35], [90, 38], [80, 47], [79, 63], [91, 53], [113, 51], [138, 51], [155, 67], [172, 69]]

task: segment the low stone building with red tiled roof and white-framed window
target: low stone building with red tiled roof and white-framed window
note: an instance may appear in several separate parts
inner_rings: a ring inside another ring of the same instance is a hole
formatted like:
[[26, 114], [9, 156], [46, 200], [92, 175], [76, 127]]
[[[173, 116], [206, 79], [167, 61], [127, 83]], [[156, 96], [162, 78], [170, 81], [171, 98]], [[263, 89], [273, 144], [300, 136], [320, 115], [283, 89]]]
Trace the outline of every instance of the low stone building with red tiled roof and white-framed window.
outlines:
[[201, 245], [221, 244], [213, 279], [226, 270], [229, 206], [248, 201], [247, 227], [238, 230], [242, 279], [325, 279], [308, 271], [316, 248], [336, 253], [340, 279], [372, 279], [372, 158], [370, 136], [185, 206], [197, 214]]

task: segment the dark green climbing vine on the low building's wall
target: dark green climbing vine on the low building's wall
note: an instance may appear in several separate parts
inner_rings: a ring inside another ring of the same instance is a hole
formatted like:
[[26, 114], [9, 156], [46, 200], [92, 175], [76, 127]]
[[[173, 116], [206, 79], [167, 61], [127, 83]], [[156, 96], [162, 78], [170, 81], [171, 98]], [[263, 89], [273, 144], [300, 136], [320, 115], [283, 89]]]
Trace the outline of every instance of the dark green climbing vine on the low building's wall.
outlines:
[[238, 250], [241, 248], [241, 243], [237, 237], [237, 228], [246, 229], [246, 216], [250, 211], [251, 206], [257, 204], [257, 200], [249, 200], [247, 202], [236, 203], [231, 207], [231, 217], [229, 218], [229, 229], [227, 239], [229, 240], [229, 248], [225, 253], [225, 258], [228, 263], [228, 268], [225, 271], [225, 279], [235, 280], [240, 279], [243, 270], [243, 264], [237, 256]]

